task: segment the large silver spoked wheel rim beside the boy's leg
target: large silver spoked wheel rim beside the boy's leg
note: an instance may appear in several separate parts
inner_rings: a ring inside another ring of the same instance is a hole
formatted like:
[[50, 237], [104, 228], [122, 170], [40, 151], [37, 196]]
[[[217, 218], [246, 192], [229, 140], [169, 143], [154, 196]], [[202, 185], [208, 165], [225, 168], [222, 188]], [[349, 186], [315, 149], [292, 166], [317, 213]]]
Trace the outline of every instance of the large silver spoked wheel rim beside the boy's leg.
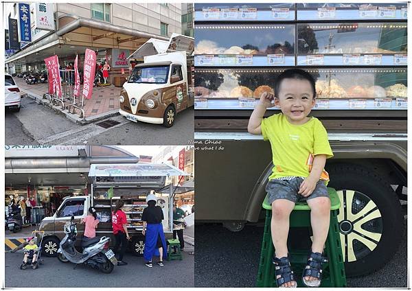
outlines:
[[378, 246], [382, 237], [382, 215], [365, 194], [354, 190], [337, 191], [341, 208], [338, 222], [343, 260], [357, 261]]

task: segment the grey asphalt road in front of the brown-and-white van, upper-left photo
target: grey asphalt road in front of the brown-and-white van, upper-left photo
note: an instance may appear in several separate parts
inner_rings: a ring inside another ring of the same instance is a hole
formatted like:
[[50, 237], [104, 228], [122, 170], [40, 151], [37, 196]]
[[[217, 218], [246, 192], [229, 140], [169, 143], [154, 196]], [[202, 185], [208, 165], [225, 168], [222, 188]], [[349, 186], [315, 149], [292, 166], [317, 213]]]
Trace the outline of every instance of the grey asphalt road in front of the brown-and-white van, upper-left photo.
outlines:
[[5, 110], [5, 144], [185, 145], [193, 139], [193, 115], [193, 108], [182, 111], [176, 115], [172, 128], [135, 123], [121, 115], [108, 118], [120, 123], [111, 128], [95, 123], [81, 126], [30, 97], [23, 97], [19, 113]]

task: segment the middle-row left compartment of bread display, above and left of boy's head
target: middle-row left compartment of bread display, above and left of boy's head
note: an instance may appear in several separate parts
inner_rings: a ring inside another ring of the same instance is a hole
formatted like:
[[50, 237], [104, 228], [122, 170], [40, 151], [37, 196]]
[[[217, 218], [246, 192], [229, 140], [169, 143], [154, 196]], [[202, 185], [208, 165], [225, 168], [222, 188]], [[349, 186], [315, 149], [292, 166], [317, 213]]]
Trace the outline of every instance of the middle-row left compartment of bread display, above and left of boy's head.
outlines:
[[196, 25], [195, 67], [295, 65], [295, 25]]

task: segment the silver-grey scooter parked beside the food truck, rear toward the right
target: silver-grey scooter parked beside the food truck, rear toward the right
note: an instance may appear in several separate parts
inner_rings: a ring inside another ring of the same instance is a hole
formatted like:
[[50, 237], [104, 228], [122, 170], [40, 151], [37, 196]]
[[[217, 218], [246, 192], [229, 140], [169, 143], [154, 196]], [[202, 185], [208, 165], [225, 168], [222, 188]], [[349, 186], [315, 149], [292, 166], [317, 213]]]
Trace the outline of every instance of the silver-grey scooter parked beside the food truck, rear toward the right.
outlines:
[[74, 216], [71, 216], [71, 220], [65, 224], [66, 236], [63, 237], [57, 251], [59, 261], [85, 264], [100, 272], [111, 273], [114, 266], [117, 265], [117, 259], [115, 253], [108, 248], [110, 237], [94, 237], [91, 240], [82, 242], [83, 251], [80, 253], [75, 248], [77, 227], [73, 220]]

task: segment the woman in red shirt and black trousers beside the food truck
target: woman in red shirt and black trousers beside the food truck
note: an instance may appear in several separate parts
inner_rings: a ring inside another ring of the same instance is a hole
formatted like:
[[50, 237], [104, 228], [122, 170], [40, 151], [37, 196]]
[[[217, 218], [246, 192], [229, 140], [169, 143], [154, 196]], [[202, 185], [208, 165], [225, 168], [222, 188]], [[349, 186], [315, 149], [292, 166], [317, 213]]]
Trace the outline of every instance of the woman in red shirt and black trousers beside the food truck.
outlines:
[[[122, 207], [124, 206], [123, 200], [117, 200], [115, 209], [113, 209], [112, 213], [112, 226], [113, 226], [113, 234], [116, 237], [116, 244], [115, 244], [115, 253], [118, 255], [117, 257], [117, 266], [125, 266], [127, 265], [126, 261], [123, 261], [123, 255], [126, 252], [127, 248], [127, 241], [130, 240], [127, 231], [127, 220], [126, 214], [122, 211]], [[122, 248], [119, 246], [122, 245]], [[119, 251], [119, 253], [117, 253]]]

